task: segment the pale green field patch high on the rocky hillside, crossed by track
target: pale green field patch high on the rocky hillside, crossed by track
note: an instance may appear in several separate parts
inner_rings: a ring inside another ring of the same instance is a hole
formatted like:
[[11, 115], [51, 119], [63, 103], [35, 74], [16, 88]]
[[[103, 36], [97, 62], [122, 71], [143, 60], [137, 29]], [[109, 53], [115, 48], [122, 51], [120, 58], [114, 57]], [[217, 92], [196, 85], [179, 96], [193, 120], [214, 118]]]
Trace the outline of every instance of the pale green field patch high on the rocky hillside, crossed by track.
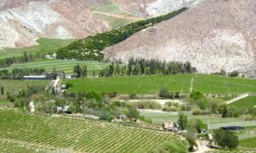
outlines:
[[94, 7], [92, 12], [98, 19], [109, 23], [113, 29], [141, 20], [141, 18], [126, 12], [122, 7], [115, 3], [99, 5]]

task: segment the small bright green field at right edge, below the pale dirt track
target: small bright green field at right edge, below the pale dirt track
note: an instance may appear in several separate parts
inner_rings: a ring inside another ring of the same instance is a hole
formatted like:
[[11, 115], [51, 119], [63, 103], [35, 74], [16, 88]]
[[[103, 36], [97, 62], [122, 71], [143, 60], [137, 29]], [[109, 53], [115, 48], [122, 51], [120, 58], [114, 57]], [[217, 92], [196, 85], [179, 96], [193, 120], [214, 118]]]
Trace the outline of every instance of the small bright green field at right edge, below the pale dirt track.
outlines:
[[256, 96], [249, 96], [244, 99], [240, 99], [239, 101], [229, 104], [229, 106], [241, 110], [251, 109], [253, 107], [256, 109]]

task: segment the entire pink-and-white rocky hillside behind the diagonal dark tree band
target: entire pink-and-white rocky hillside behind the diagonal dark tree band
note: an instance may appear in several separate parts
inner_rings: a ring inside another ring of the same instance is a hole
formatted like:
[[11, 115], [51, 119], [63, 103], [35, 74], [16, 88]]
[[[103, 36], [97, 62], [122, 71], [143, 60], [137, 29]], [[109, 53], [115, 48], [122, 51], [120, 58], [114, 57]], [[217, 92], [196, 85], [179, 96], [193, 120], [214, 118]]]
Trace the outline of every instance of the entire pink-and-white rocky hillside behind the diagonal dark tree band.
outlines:
[[[31, 46], [40, 37], [83, 38], [137, 21], [136, 16], [158, 16], [199, 1], [201, 0], [0, 0], [0, 47]], [[118, 14], [118, 10], [111, 10], [114, 14], [104, 12], [109, 11], [107, 8], [96, 14], [92, 11], [94, 7], [107, 3], [115, 3], [119, 6], [118, 9], [135, 16], [136, 20], [130, 20], [128, 15], [126, 16], [129, 18], [120, 16], [124, 12]], [[116, 18], [120, 20], [115, 20]]]

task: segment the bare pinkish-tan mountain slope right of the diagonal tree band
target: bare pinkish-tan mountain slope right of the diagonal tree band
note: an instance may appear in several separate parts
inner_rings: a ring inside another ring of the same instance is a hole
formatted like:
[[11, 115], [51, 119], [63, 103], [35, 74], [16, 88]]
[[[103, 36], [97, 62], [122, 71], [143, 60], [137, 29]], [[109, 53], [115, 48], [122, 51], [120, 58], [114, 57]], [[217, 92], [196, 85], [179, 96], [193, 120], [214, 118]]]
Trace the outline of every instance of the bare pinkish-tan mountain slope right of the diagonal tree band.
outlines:
[[256, 1], [209, 0], [104, 50], [105, 58], [190, 61], [199, 72], [255, 71]]

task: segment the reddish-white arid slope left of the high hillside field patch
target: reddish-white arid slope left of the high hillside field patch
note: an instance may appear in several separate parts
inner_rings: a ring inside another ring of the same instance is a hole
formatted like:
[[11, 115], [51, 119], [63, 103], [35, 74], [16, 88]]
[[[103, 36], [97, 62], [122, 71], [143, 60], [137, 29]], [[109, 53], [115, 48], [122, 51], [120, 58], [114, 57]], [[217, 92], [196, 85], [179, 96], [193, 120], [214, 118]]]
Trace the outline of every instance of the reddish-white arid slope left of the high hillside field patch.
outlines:
[[0, 12], [2, 47], [31, 46], [39, 37], [83, 38], [110, 29], [83, 0], [6, 1], [3, 7], [10, 9]]

